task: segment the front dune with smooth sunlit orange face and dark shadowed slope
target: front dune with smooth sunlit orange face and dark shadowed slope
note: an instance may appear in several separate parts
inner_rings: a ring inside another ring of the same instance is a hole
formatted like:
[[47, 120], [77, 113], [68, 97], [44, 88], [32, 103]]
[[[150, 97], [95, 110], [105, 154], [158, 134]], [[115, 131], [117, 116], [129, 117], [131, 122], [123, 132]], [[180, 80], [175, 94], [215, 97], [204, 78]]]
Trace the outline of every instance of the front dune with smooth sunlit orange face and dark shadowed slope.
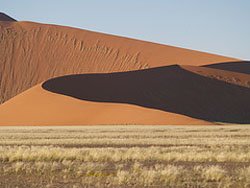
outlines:
[[[0, 124], [9, 123], [11, 119], [13, 124], [29, 124], [31, 120], [24, 120], [23, 114], [30, 114], [31, 119], [36, 117], [36, 125], [59, 123], [58, 114], [68, 118], [65, 122], [83, 125], [250, 123], [249, 88], [201, 76], [177, 65], [131, 72], [68, 75], [48, 80], [42, 88], [44, 90], [31, 89], [3, 104]], [[35, 92], [37, 96], [32, 97]], [[86, 106], [79, 105], [81, 110], [73, 109], [73, 103], [68, 107], [68, 103], [59, 98]], [[20, 113], [17, 113], [18, 108], [22, 109]], [[81, 119], [75, 118], [77, 122], [72, 117], [75, 113], [82, 113]], [[50, 114], [50, 119], [46, 120], [44, 114]]]

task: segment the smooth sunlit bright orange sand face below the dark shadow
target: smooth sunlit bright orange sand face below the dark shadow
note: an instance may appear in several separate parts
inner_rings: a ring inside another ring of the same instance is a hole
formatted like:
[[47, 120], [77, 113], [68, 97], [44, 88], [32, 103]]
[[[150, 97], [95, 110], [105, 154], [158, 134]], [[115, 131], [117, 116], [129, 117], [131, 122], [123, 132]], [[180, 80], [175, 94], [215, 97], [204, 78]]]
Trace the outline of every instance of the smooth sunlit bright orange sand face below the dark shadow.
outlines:
[[37, 85], [0, 106], [0, 125], [210, 125], [131, 104], [75, 99]]

